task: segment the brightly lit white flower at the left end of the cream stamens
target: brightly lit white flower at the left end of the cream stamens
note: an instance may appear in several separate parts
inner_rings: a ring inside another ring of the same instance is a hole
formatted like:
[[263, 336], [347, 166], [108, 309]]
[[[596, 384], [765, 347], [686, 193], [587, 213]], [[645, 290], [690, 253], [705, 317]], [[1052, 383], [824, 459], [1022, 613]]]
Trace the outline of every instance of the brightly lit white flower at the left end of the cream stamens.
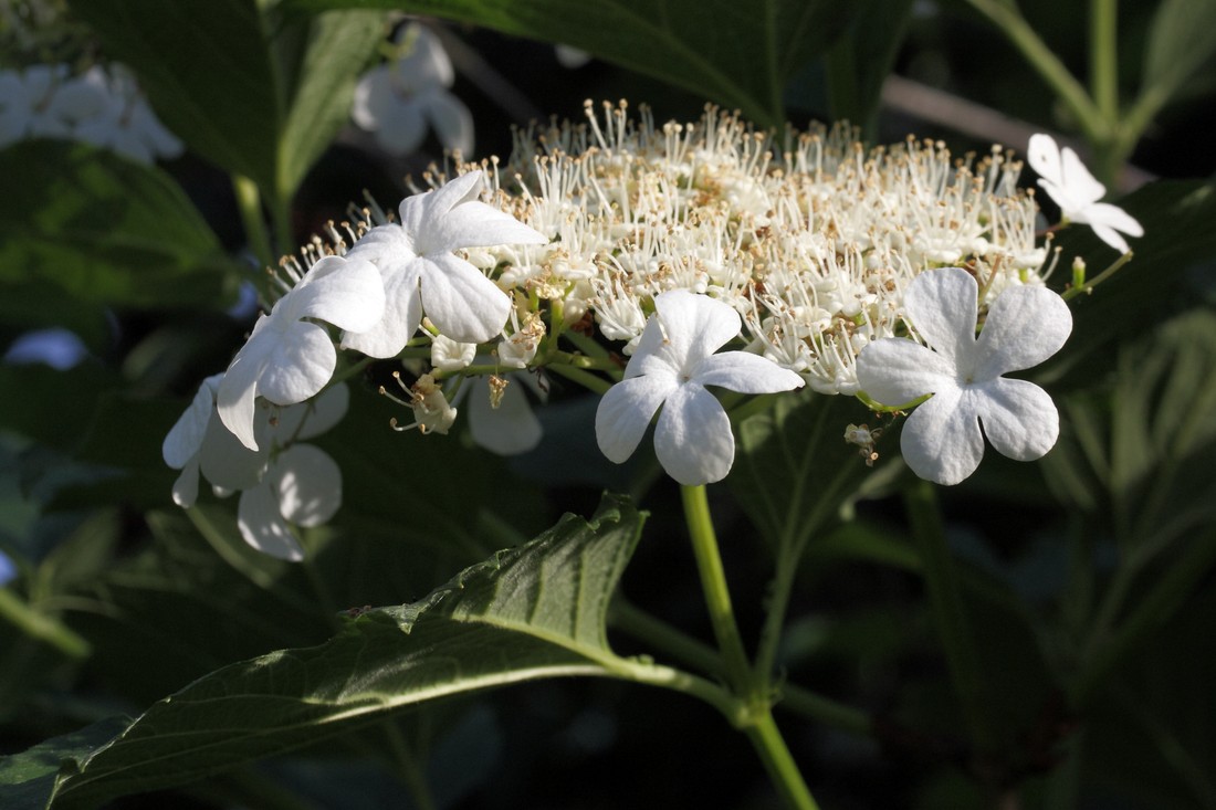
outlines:
[[384, 276], [384, 317], [342, 338], [343, 348], [392, 358], [418, 330], [422, 313], [458, 343], [484, 343], [507, 322], [511, 298], [452, 251], [491, 244], [541, 244], [544, 235], [477, 199], [482, 173], [401, 201], [400, 224], [370, 230], [347, 253]]

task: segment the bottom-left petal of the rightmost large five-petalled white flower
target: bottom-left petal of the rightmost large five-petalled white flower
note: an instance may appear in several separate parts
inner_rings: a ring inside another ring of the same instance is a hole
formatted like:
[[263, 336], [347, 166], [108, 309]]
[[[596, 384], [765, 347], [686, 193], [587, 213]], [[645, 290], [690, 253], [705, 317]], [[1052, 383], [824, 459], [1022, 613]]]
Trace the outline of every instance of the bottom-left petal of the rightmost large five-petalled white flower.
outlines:
[[918, 406], [903, 424], [900, 451], [917, 476], [947, 486], [975, 472], [984, 434], [966, 392], [945, 390]]

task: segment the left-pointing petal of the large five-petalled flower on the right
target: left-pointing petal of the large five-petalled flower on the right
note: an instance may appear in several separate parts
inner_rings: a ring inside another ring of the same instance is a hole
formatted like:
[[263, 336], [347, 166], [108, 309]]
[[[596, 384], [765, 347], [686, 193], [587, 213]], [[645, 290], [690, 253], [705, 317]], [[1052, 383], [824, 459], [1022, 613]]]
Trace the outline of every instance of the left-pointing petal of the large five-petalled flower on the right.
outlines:
[[958, 387], [946, 358], [906, 338], [874, 341], [857, 356], [857, 383], [883, 405], [903, 405]]

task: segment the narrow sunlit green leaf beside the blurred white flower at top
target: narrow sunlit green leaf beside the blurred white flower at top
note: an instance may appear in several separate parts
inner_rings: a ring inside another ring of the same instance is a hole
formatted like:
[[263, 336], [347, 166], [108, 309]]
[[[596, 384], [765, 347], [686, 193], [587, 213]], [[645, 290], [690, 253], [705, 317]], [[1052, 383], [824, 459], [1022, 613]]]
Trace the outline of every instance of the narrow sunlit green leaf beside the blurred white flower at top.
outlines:
[[287, 196], [350, 120], [355, 80], [384, 38], [384, 15], [323, 13], [313, 22], [311, 34], [278, 156], [278, 187]]

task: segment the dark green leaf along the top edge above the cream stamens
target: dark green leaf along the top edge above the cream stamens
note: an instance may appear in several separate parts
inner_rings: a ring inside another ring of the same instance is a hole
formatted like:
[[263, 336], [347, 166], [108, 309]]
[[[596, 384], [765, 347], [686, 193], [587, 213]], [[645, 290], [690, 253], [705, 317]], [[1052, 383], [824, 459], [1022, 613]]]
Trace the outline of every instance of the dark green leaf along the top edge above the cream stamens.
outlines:
[[764, 126], [782, 91], [855, 18], [834, 0], [285, 0], [285, 7], [385, 9], [572, 45], [704, 95]]

